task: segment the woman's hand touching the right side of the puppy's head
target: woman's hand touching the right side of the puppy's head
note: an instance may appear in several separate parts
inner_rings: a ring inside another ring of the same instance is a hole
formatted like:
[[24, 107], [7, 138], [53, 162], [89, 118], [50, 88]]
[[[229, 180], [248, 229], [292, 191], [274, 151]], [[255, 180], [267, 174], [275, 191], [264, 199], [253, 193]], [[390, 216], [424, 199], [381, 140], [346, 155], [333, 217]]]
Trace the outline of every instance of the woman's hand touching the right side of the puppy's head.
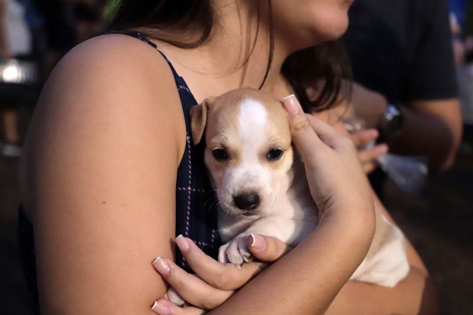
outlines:
[[374, 217], [371, 189], [353, 142], [312, 115], [305, 115], [294, 95], [286, 97], [283, 104], [321, 219], [331, 209], [368, 211]]

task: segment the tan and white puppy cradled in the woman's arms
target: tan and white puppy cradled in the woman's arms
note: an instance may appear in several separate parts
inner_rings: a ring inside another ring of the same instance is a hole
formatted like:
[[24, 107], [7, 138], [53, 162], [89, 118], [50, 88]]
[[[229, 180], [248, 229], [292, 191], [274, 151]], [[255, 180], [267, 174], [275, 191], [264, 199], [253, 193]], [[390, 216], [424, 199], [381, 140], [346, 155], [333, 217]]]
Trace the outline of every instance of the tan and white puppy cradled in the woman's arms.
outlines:
[[[240, 267], [251, 261], [250, 233], [296, 246], [317, 226], [318, 210], [278, 99], [250, 88], [207, 98], [191, 109], [191, 126], [195, 144], [205, 136], [205, 164], [217, 191], [226, 243], [220, 262]], [[402, 232], [377, 211], [372, 246], [351, 279], [392, 287], [408, 270]]]

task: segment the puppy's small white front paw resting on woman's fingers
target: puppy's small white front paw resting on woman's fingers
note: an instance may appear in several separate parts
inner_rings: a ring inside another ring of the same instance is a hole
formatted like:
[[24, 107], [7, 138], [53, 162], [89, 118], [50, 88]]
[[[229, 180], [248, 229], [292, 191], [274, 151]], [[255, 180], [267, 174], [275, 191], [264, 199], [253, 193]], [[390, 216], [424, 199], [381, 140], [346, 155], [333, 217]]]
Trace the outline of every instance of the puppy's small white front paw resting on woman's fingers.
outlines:
[[221, 263], [231, 262], [236, 267], [241, 268], [243, 262], [251, 262], [254, 256], [248, 250], [247, 235], [240, 235], [225, 245], [218, 251], [218, 261]]

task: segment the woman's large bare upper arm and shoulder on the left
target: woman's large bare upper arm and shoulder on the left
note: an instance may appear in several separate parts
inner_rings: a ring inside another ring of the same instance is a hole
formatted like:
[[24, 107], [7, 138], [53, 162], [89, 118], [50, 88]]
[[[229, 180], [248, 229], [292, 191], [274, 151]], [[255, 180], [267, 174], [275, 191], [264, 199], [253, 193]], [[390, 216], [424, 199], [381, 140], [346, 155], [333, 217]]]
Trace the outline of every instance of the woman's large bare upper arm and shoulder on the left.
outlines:
[[107, 35], [50, 76], [26, 144], [41, 314], [150, 314], [173, 255], [179, 96], [161, 55]]

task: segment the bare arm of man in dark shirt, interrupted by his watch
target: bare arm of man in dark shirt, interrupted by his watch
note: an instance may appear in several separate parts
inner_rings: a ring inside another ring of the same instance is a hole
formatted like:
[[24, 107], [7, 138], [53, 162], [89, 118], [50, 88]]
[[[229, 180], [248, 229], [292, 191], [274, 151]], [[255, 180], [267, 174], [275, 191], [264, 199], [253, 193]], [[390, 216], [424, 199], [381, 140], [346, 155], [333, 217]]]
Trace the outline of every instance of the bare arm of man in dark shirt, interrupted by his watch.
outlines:
[[[347, 115], [363, 119], [375, 128], [388, 106], [386, 98], [354, 83]], [[400, 106], [404, 123], [388, 145], [393, 153], [429, 157], [433, 173], [453, 164], [462, 138], [462, 117], [458, 98], [413, 100]]]

